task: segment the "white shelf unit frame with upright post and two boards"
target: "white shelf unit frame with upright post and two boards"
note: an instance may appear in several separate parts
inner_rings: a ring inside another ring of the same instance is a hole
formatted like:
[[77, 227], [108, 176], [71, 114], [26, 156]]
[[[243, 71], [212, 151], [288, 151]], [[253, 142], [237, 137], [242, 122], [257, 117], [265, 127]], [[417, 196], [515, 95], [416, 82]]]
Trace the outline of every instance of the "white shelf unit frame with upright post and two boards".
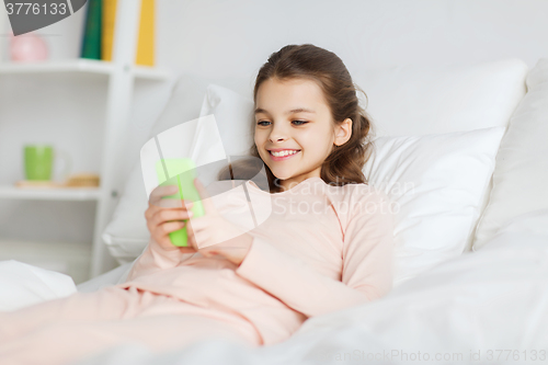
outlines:
[[115, 198], [123, 187], [123, 176], [117, 176], [121, 150], [117, 141], [128, 129], [129, 112], [135, 80], [165, 82], [173, 77], [170, 71], [135, 65], [140, 1], [118, 0], [114, 30], [113, 60], [70, 59], [33, 64], [0, 64], [1, 75], [70, 73], [84, 72], [107, 78], [105, 129], [101, 156], [99, 187], [16, 187], [0, 185], [1, 199], [41, 201], [96, 201], [93, 242], [89, 276], [94, 277], [116, 265], [109, 254], [101, 233], [112, 217]]

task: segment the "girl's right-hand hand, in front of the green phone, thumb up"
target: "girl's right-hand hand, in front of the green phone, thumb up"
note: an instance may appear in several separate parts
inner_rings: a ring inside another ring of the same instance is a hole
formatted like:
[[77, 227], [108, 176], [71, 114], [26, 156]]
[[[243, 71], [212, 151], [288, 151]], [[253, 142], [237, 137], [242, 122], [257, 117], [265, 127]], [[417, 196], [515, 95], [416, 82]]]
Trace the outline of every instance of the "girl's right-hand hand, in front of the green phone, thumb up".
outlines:
[[220, 254], [239, 265], [246, 258], [253, 237], [218, 213], [198, 179], [194, 179], [194, 185], [202, 198], [205, 215], [190, 218], [186, 227], [190, 244], [206, 258]]

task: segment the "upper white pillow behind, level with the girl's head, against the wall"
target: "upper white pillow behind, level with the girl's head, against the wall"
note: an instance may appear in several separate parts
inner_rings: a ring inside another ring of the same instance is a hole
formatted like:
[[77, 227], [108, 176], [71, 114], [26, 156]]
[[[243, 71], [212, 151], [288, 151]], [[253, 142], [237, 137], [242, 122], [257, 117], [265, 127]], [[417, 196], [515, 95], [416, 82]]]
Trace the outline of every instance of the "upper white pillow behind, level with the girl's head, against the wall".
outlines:
[[[357, 70], [377, 136], [420, 136], [506, 126], [525, 95], [521, 59]], [[362, 93], [358, 93], [363, 96]]]

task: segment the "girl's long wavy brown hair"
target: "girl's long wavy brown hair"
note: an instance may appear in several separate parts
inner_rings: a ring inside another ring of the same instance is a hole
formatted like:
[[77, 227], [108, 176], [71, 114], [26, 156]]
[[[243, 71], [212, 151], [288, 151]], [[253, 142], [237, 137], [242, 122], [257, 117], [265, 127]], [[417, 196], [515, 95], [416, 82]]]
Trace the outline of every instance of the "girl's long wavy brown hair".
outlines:
[[[305, 78], [317, 82], [330, 106], [333, 127], [340, 125], [345, 118], [352, 119], [352, 136], [345, 144], [333, 146], [332, 152], [321, 166], [320, 178], [328, 184], [339, 186], [349, 183], [366, 183], [362, 169], [374, 148], [374, 128], [369, 116], [359, 105], [357, 92], [364, 93], [365, 98], [367, 95], [352, 81], [343, 61], [334, 53], [311, 44], [287, 45], [273, 53], [259, 70], [253, 90], [255, 105], [260, 85], [271, 78], [281, 81]], [[254, 123], [251, 123], [251, 126], [252, 134], [254, 134]], [[254, 157], [255, 161], [261, 159], [255, 144], [251, 146], [249, 155]], [[279, 179], [274, 176], [265, 163], [263, 164], [269, 184], [264, 187], [271, 193], [279, 192]], [[218, 178], [219, 180], [248, 180], [258, 172], [256, 169], [256, 163], [243, 159], [238, 161], [238, 167], [233, 162], [229, 164]], [[240, 173], [236, 173], [235, 176], [236, 170]]]

